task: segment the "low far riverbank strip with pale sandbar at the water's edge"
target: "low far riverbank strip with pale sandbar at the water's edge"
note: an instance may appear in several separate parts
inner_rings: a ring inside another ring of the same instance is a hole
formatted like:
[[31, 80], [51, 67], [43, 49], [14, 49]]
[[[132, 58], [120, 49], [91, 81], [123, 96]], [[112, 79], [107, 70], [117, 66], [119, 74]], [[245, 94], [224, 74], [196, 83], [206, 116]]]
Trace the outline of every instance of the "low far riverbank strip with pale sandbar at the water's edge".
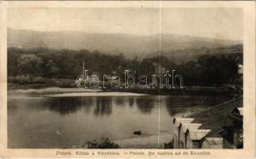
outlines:
[[84, 89], [73, 87], [59, 87], [55, 84], [44, 84], [44, 83], [34, 83], [34, 84], [17, 84], [8, 83], [8, 91], [12, 92], [14, 90], [26, 90], [26, 93], [36, 93], [36, 94], [62, 94], [62, 93], [76, 93], [76, 92], [126, 92], [129, 94], [143, 94], [143, 95], [225, 95], [225, 96], [235, 96], [241, 95], [242, 91], [240, 89], [234, 89], [231, 87], [184, 87], [183, 89], [157, 89], [157, 88], [112, 88], [112, 89]]

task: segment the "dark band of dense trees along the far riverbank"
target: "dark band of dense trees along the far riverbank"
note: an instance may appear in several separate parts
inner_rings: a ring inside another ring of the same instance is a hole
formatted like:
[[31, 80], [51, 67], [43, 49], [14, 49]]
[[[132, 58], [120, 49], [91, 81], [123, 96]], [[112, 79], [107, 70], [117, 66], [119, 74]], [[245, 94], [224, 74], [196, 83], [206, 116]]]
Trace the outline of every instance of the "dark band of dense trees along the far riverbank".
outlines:
[[84, 68], [90, 75], [122, 75], [129, 70], [134, 76], [155, 74], [161, 65], [166, 71], [176, 70], [184, 77], [184, 85], [192, 86], [221, 86], [234, 83], [238, 78], [239, 61], [242, 54], [226, 53], [199, 56], [196, 60], [181, 64], [174, 64], [166, 56], [140, 59], [126, 58], [122, 53], [118, 55], [106, 54], [99, 51], [55, 50], [48, 48], [8, 48], [7, 71], [8, 76], [34, 76], [45, 78], [73, 79], [83, 72]]

